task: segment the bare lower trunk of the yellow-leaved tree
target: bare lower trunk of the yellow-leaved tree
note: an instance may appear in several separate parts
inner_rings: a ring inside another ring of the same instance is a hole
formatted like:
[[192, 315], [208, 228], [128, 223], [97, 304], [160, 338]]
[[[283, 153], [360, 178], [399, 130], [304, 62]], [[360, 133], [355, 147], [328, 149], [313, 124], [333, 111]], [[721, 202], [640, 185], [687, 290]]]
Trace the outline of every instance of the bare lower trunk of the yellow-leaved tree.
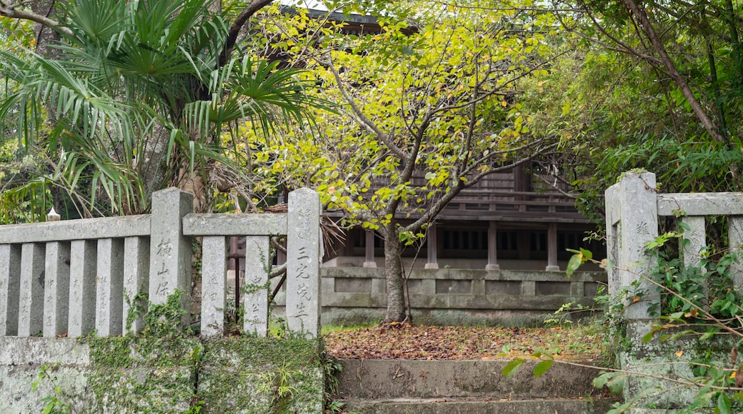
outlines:
[[405, 290], [403, 286], [403, 252], [395, 223], [386, 226], [384, 234], [384, 268], [387, 286], [385, 323], [405, 321]]

